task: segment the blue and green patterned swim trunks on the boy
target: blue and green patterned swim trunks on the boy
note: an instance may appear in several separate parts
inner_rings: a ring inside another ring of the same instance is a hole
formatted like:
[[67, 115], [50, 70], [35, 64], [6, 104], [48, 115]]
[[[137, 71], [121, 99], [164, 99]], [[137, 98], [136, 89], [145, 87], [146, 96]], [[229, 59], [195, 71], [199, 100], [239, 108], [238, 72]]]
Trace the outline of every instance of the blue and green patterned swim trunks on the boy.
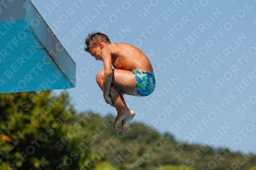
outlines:
[[156, 87], [155, 76], [151, 72], [139, 71], [137, 69], [132, 70], [132, 72], [136, 78], [138, 94], [142, 96], [150, 95]]

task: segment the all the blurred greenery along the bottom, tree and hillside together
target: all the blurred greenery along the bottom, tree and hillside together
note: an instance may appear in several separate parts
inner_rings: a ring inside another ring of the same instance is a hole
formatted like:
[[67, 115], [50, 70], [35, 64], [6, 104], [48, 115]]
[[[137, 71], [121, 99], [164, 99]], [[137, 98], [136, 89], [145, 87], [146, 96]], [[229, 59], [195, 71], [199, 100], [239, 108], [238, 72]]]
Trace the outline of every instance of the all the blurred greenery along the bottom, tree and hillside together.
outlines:
[[255, 169], [256, 155], [175, 140], [140, 123], [75, 113], [64, 90], [0, 94], [0, 169]]

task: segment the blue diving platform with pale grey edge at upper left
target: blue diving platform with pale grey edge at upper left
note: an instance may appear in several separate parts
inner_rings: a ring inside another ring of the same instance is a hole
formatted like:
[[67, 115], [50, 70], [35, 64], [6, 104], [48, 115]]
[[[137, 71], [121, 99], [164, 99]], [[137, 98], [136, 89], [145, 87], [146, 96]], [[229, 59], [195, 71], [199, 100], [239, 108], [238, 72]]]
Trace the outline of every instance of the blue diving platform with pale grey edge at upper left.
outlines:
[[0, 93], [74, 88], [76, 64], [30, 0], [0, 7]]

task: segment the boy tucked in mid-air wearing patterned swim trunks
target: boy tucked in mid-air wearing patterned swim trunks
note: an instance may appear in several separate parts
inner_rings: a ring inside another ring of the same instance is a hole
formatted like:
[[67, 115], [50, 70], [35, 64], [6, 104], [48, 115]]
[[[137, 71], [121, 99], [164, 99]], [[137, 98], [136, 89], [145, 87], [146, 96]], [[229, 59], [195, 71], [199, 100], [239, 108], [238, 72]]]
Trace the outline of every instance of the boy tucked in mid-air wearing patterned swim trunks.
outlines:
[[150, 60], [139, 48], [111, 43], [108, 36], [99, 32], [88, 34], [85, 44], [86, 52], [103, 61], [104, 70], [98, 72], [96, 81], [105, 102], [117, 110], [113, 126], [118, 129], [122, 121], [122, 130], [127, 133], [135, 112], [127, 108], [123, 94], [147, 96], [154, 91], [156, 81]]

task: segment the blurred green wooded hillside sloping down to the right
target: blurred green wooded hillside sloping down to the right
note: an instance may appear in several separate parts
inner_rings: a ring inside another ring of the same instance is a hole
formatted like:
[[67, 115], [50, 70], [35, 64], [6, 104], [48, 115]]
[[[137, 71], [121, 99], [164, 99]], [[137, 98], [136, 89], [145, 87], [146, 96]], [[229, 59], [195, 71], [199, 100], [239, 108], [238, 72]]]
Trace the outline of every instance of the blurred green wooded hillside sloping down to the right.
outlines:
[[[252, 168], [256, 155], [230, 152], [228, 149], [214, 149], [199, 144], [185, 144], [176, 141], [169, 133], [159, 134], [140, 123], [133, 123], [129, 133], [116, 131], [112, 127], [114, 117], [91, 114], [91, 124], [98, 128], [88, 137], [94, 154], [119, 169], [241, 169]], [[108, 121], [106, 121], [108, 119]], [[110, 124], [105, 124], [109, 122]], [[106, 126], [107, 125], [107, 126]], [[120, 125], [119, 125], [120, 126]], [[104, 131], [100, 133], [100, 131]], [[243, 164], [239, 164], [243, 162]], [[215, 167], [216, 166], [216, 167]], [[256, 168], [255, 168], [256, 170]]]

